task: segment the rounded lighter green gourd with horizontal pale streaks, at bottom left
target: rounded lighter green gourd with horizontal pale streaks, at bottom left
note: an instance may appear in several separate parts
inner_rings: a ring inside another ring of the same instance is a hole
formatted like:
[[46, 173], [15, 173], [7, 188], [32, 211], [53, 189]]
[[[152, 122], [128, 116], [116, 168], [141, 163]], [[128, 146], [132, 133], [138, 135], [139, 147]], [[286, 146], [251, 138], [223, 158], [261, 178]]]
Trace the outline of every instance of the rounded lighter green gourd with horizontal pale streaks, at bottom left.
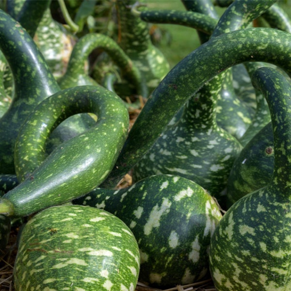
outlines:
[[16, 291], [135, 289], [137, 242], [111, 213], [80, 205], [54, 206], [24, 226], [16, 262]]

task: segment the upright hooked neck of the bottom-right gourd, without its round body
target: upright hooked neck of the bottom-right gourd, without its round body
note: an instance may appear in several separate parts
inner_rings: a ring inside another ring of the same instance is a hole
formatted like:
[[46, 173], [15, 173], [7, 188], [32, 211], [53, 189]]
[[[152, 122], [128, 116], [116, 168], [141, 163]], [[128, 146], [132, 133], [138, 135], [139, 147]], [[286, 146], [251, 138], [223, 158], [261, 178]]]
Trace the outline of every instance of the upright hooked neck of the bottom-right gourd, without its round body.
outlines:
[[[258, 69], [252, 77], [264, 94], [271, 113], [275, 165], [269, 187], [290, 195], [291, 186], [291, 86], [290, 81], [273, 68]], [[287, 191], [288, 190], [288, 191]]]

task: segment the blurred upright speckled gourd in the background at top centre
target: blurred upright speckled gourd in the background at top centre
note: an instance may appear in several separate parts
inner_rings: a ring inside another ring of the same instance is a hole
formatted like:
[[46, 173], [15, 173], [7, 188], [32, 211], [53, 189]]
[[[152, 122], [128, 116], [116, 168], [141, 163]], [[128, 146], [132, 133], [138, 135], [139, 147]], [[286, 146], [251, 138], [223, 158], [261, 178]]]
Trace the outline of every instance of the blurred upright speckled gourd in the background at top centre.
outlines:
[[139, 68], [148, 92], [151, 93], [168, 73], [169, 64], [162, 52], [152, 44], [147, 23], [132, 14], [131, 6], [135, 3], [135, 0], [115, 1], [118, 43]]

